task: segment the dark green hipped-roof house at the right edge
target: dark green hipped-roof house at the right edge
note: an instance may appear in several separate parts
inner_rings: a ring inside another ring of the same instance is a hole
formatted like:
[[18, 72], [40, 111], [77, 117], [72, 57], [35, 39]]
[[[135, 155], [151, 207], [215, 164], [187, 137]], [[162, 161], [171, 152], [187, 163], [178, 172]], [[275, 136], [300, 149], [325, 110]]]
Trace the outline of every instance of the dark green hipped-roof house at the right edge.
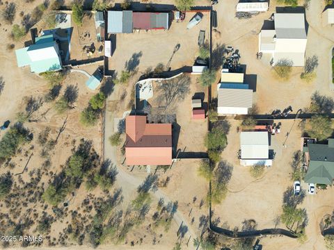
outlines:
[[332, 185], [334, 179], [334, 139], [328, 144], [308, 144], [310, 163], [305, 175], [306, 183]]

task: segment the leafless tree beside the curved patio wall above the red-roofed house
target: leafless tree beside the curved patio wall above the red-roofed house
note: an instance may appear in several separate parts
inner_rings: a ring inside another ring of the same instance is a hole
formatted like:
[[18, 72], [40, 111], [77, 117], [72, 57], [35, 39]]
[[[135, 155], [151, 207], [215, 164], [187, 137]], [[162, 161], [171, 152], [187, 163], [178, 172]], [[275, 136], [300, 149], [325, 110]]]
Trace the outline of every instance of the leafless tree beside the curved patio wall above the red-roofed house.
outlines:
[[190, 77], [180, 76], [168, 81], [164, 81], [158, 86], [158, 91], [161, 92], [158, 97], [161, 101], [165, 101], [165, 110], [173, 101], [180, 101], [186, 97], [189, 92]]

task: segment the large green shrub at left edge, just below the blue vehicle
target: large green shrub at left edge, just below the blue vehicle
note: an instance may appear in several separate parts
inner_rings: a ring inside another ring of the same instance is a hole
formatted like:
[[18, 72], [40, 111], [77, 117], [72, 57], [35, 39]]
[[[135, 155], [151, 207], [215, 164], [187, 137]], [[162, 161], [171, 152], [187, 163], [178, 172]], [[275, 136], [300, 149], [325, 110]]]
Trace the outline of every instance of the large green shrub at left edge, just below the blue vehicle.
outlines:
[[0, 140], [0, 159], [15, 156], [18, 147], [29, 141], [28, 133], [26, 128], [19, 124], [11, 127]]

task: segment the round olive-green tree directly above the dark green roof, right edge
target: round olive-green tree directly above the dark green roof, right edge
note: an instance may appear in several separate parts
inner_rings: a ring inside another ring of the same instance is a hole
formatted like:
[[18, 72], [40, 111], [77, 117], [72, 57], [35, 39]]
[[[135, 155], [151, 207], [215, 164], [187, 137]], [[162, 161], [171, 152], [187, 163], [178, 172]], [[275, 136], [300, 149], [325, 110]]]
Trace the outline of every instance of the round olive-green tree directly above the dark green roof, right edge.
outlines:
[[312, 138], [325, 140], [331, 137], [333, 133], [332, 121], [326, 115], [313, 115], [308, 121], [306, 132]]

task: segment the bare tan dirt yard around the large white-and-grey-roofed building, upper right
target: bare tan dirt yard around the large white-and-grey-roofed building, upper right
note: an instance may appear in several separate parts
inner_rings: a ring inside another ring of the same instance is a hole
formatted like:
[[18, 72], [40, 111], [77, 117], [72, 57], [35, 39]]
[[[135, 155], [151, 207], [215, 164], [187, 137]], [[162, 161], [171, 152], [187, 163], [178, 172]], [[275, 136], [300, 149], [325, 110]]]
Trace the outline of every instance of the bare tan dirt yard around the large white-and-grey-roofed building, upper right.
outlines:
[[[312, 83], [305, 83], [300, 79], [302, 67], [294, 67], [292, 76], [288, 81], [279, 81], [273, 77], [269, 61], [256, 60], [258, 51], [258, 33], [260, 33], [264, 20], [275, 12], [274, 1], [270, 3], [268, 12], [256, 15], [251, 19], [237, 19], [234, 17], [236, 0], [221, 1], [218, 10], [218, 31], [220, 36], [214, 36], [214, 44], [225, 44], [239, 49], [240, 63], [247, 66], [246, 74], [257, 75], [254, 101], [260, 113], [271, 113], [273, 109], [284, 109], [291, 105], [294, 110], [305, 108], [310, 103], [310, 95], [316, 90], [321, 94], [330, 94], [331, 83], [331, 48], [333, 47], [333, 27], [322, 27], [321, 11], [324, 9], [323, 1], [310, 1], [310, 8], [306, 11], [308, 20], [308, 44], [306, 57], [316, 55], [319, 59], [317, 78]], [[220, 11], [223, 10], [223, 11]], [[315, 49], [317, 48], [317, 49]]]

